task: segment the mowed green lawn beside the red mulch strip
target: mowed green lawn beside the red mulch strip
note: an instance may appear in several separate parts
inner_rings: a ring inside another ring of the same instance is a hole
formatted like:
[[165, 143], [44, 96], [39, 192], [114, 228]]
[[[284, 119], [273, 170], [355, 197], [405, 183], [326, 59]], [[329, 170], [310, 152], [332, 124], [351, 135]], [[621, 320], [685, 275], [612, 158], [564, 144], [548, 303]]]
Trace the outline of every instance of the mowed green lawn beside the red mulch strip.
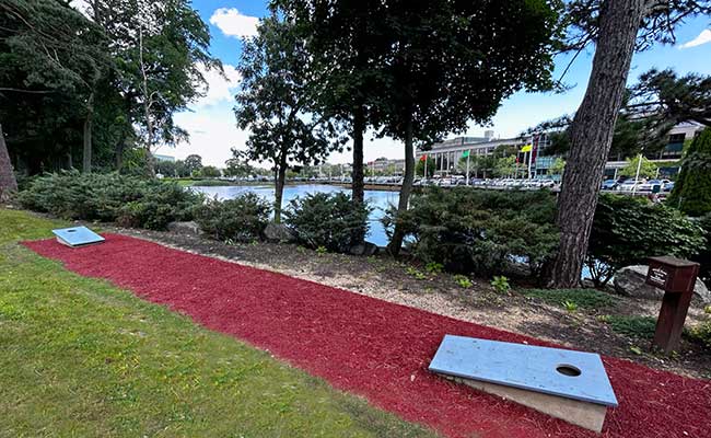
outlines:
[[434, 436], [18, 244], [62, 224], [0, 209], [0, 437]]

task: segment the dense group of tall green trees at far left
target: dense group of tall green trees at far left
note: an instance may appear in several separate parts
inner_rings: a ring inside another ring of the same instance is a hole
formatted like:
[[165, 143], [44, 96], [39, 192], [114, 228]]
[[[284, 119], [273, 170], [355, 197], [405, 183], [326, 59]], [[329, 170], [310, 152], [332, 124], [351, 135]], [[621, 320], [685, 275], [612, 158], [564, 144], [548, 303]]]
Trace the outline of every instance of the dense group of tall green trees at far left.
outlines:
[[0, 3], [0, 177], [57, 169], [153, 172], [156, 145], [187, 132], [173, 115], [222, 69], [189, 0]]

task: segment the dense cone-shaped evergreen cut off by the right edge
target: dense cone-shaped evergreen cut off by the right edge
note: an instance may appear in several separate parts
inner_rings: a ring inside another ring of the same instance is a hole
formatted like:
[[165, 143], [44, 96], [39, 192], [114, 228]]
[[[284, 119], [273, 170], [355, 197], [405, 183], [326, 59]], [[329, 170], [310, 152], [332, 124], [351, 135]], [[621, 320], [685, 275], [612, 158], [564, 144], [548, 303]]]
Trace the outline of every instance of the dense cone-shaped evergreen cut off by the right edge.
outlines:
[[667, 204], [689, 216], [711, 212], [711, 128], [693, 139]]

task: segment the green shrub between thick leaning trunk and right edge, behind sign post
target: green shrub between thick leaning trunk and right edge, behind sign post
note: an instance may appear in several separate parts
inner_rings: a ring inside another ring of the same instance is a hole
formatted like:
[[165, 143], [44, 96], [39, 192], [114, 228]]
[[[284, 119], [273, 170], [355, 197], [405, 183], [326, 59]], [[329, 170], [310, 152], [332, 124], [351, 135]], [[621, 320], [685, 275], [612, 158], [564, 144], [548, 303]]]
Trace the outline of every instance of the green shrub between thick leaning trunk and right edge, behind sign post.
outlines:
[[602, 195], [595, 210], [586, 264], [606, 284], [623, 266], [654, 255], [689, 257], [704, 247], [703, 230], [679, 211], [646, 198]]

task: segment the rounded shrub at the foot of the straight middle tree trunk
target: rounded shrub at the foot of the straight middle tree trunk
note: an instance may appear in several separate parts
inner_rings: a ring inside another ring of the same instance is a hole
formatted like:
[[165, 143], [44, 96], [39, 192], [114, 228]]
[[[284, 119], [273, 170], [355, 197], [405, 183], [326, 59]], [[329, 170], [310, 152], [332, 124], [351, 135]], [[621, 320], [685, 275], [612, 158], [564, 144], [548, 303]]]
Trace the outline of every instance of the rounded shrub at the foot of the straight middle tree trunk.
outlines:
[[284, 223], [306, 246], [345, 253], [368, 233], [368, 205], [354, 205], [343, 193], [316, 193], [289, 203]]

